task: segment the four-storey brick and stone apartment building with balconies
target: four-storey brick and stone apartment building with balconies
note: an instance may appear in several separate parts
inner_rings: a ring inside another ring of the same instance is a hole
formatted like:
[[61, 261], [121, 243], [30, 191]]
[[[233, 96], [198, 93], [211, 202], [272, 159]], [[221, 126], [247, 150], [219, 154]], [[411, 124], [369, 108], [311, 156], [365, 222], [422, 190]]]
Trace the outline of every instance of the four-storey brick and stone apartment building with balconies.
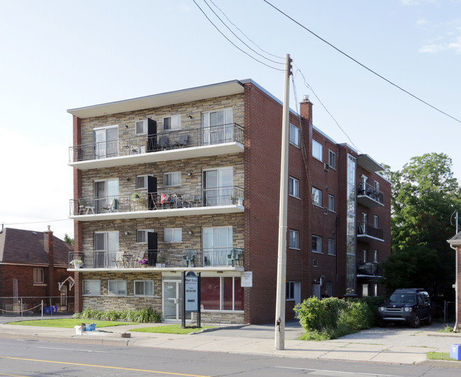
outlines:
[[[68, 112], [75, 309], [152, 305], [177, 321], [193, 270], [203, 320], [273, 322], [282, 103], [243, 80]], [[383, 168], [314, 127], [308, 100], [290, 123], [287, 319], [311, 295], [384, 293], [390, 252]]]

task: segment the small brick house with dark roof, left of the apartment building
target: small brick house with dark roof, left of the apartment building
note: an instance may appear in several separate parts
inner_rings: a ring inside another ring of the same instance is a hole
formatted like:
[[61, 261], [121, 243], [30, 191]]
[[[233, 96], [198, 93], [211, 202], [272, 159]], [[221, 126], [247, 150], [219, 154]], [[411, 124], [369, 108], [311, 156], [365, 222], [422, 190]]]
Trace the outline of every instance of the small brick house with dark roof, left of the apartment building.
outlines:
[[44, 300], [45, 306], [73, 310], [74, 280], [67, 271], [72, 250], [50, 227], [0, 230], [0, 309], [18, 311], [22, 303], [27, 310]]

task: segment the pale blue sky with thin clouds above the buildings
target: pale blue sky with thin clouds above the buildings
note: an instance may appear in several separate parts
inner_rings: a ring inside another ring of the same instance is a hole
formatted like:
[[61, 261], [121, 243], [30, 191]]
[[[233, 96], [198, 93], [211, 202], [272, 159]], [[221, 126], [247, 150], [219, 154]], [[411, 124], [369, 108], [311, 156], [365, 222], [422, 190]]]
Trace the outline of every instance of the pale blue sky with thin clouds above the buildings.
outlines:
[[0, 0], [0, 223], [73, 237], [67, 109], [235, 79], [282, 100], [286, 54], [291, 109], [309, 95], [335, 142], [394, 171], [443, 152], [461, 181], [461, 0], [268, 1], [297, 23], [263, 0]]

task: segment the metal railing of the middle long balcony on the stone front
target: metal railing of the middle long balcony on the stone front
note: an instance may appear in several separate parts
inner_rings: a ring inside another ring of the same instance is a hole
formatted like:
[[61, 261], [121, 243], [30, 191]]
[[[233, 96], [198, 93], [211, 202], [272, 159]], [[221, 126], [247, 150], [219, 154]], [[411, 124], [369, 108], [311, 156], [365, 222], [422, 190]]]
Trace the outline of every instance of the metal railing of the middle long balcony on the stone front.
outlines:
[[169, 210], [210, 206], [243, 206], [243, 188], [227, 186], [204, 188], [201, 191], [170, 190], [129, 195], [89, 197], [70, 200], [70, 215], [135, 212], [140, 210]]

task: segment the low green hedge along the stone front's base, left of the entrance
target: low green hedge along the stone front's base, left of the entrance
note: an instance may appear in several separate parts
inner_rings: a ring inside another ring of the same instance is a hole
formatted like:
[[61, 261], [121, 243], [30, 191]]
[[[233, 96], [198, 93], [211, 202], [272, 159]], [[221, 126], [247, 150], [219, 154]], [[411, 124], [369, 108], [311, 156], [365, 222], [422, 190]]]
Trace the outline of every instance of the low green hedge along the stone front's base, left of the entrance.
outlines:
[[107, 321], [127, 321], [140, 323], [155, 323], [161, 322], [162, 316], [157, 313], [152, 307], [144, 309], [124, 309], [124, 310], [91, 310], [89, 308], [82, 313], [75, 313], [74, 318], [91, 319], [91, 320], [107, 320]]

